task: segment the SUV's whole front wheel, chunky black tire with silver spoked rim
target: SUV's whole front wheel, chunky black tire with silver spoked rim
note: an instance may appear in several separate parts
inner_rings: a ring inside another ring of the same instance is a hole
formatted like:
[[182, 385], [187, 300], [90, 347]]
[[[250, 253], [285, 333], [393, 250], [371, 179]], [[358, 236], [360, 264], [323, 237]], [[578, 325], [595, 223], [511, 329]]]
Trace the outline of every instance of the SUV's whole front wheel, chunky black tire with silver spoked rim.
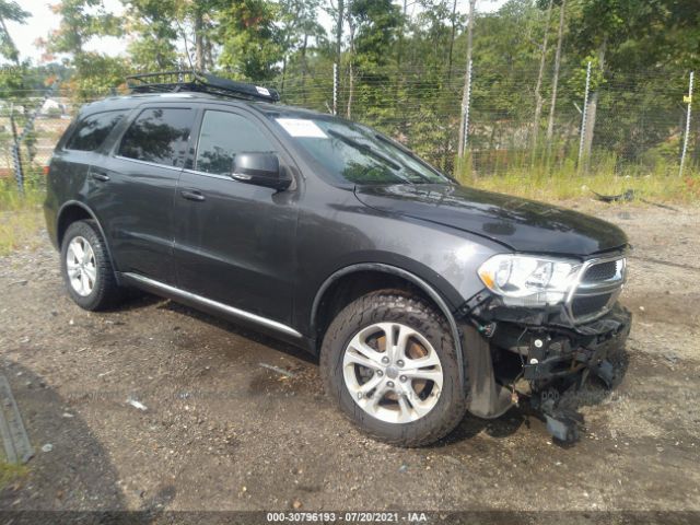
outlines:
[[352, 302], [330, 324], [320, 365], [330, 398], [378, 440], [425, 445], [464, 417], [450, 327], [421, 299], [380, 291]]

